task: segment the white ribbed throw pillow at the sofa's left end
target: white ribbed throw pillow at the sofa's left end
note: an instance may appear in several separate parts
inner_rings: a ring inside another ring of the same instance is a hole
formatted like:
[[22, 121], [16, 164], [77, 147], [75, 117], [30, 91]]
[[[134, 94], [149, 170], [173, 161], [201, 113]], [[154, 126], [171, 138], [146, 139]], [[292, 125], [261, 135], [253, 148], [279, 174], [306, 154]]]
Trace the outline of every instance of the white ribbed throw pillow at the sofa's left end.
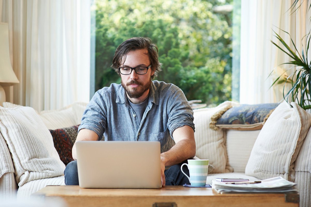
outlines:
[[31, 107], [0, 107], [0, 132], [6, 140], [18, 186], [61, 176], [65, 165], [54, 148], [52, 135]]

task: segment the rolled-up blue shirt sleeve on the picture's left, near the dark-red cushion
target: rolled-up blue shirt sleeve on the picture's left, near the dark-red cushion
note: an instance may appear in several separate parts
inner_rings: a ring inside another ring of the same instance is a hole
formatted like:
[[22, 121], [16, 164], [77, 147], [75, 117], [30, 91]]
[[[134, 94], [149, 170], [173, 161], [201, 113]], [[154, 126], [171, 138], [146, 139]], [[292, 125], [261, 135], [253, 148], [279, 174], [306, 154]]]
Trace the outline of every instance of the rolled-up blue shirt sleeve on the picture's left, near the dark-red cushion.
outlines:
[[81, 129], [89, 129], [94, 131], [99, 140], [105, 132], [107, 123], [107, 107], [100, 92], [96, 92], [90, 103], [86, 106], [81, 119], [81, 125], [78, 128], [78, 133]]

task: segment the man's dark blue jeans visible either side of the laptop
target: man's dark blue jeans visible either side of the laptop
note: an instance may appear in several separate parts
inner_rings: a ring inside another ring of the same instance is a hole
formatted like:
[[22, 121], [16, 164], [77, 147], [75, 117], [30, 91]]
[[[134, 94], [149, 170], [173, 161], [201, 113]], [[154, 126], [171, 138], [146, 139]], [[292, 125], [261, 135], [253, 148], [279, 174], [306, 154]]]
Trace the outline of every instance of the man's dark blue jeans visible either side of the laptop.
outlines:
[[[164, 171], [166, 186], [182, 186], [185, 183], [190, 185], [188, 178], [180, 170], [180, 167], [183, 163], [188, 162], [185, 160], [177, 165], [171, 166], [169, 169]], [[183, 172], [189, 176], [189, 170], [187, 166], [183, 166]], [[77, 160], [67, 164], [64, 174], [66, 185], [79, 185]]]

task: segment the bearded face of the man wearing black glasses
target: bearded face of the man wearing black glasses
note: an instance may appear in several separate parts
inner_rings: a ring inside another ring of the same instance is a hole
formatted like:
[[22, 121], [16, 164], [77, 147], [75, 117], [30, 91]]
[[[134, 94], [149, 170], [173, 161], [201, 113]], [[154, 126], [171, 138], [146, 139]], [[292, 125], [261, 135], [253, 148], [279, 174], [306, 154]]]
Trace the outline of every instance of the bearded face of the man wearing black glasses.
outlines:
[[[148, 57], [147, 49], [137, 49], [134, 51], [130, 51], [124, 64], [120, 67], [138, 67], [145, 66], [148, 67], [151, 63]], [[152, 67], [152, 66], [151, 66]], [[151, 68], [148, 69], [146, 74], [139, 75], [132, 70], [132, 73], [129, 75], [121, 75], [121, 84], [125, 91], [127, 92], [130, 98], [139, 98], [142, 95], [145, 95], [149, 92], [149, 88], [151, 85], [151, 75], [153, 75]]]

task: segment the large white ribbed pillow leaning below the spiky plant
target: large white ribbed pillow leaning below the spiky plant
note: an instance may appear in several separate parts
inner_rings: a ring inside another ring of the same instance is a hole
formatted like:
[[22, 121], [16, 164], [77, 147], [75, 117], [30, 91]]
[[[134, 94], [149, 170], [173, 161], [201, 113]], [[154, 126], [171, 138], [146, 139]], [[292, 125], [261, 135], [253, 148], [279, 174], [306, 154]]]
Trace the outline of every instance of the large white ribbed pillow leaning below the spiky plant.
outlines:
[[263, 125], [248, 159], [246, 175], [294, 180], [294, 162], [310, 128], [311, 115], [297, 103], [290, 105], [281, 103]]

